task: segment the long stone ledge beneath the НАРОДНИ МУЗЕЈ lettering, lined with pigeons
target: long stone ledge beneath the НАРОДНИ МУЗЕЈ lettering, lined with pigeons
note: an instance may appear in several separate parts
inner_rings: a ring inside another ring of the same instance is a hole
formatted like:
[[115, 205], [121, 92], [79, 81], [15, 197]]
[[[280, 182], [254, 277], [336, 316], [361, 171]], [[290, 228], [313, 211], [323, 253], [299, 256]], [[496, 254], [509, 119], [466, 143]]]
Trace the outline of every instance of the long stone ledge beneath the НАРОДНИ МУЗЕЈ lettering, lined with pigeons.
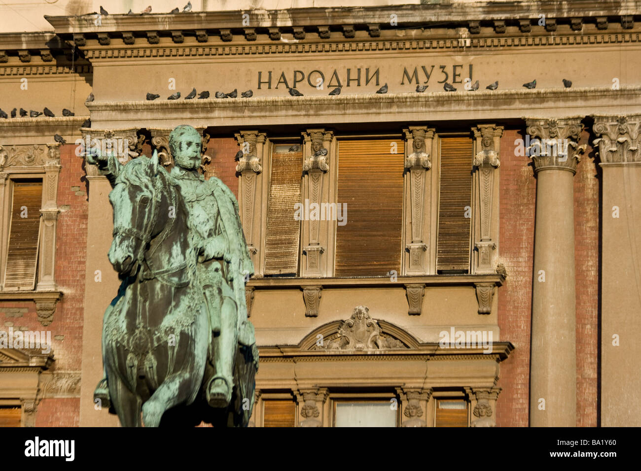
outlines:
[[[399, 121], [431, 122], [449, 119], [487, 119], [495, 113], [503, 119], [522, 119], [524, 113], [554, 117], [558, 110], [576, 115], [640, 113], [641, 86], [540, 88], [475, 93], [354, 94], [290, 97], [252, 97], [241, 100], [109, 101], [87, 103], [92, 126], [124, 128], [177, 126], [271, 126], [274, 124], [320, 125], [339, 122], [378, 122], [394, 115]], [[160, 119], [162, 117], [162, 119]], [[1, 124], [0, 124], [1, 126]]]

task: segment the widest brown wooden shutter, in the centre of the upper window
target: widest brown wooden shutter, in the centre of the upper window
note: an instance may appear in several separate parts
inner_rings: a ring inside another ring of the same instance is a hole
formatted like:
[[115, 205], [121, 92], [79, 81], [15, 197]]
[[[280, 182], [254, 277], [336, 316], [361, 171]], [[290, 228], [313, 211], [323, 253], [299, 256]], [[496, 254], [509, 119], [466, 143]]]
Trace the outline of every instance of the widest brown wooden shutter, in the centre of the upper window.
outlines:
[[337, 224], [336, 276], [400, 272], [403, 160], [401, 136], [338, 143], [337, 203], [347, 204], [347, 224]]

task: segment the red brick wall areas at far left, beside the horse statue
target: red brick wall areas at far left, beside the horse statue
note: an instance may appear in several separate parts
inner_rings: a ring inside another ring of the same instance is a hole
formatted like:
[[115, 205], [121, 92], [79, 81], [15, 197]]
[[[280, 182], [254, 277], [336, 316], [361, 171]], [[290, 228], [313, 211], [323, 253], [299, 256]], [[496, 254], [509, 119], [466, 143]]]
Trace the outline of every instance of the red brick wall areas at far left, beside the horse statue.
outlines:
[[[1, 302], [0, 329], [51, 331], [53, 371], [81, 368], [82, 322], [85, 298], [87, 252], [87, 182], [75, 146], [60, 146], [62, 169], [58, 177], [58, 227], [56, 231], [55, 276], [63, 292], [53, 322], [38, 322], [34, 302]], [[36, 415], [37, 426], [78, 426], [79, 399], [45, 399]]]

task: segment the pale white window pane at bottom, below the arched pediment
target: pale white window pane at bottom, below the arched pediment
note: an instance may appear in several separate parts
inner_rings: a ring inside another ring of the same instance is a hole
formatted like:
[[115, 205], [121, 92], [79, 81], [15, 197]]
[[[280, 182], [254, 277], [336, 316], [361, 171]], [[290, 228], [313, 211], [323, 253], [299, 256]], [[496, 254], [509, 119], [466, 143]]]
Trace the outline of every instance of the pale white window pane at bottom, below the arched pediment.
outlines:
[[335, 401], [335, 427], [398, 427], [398, 411], [390, 401]]

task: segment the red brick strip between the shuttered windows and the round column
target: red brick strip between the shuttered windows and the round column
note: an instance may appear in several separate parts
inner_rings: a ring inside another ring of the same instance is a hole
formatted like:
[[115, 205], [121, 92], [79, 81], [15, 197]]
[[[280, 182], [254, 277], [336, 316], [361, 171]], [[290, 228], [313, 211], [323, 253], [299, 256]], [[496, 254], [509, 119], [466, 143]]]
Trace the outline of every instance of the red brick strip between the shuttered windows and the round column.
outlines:
[[496, 405], [496, 424], [527, 427], [529, 417], [529, 344], [536, 180], [529, 158], [515, 155], [520, 131], [506, 129], [501, 138], [499, 263], [508, 277], [499, 293], [501, 340], [515, 346], [501, 363], [503, 388]]

